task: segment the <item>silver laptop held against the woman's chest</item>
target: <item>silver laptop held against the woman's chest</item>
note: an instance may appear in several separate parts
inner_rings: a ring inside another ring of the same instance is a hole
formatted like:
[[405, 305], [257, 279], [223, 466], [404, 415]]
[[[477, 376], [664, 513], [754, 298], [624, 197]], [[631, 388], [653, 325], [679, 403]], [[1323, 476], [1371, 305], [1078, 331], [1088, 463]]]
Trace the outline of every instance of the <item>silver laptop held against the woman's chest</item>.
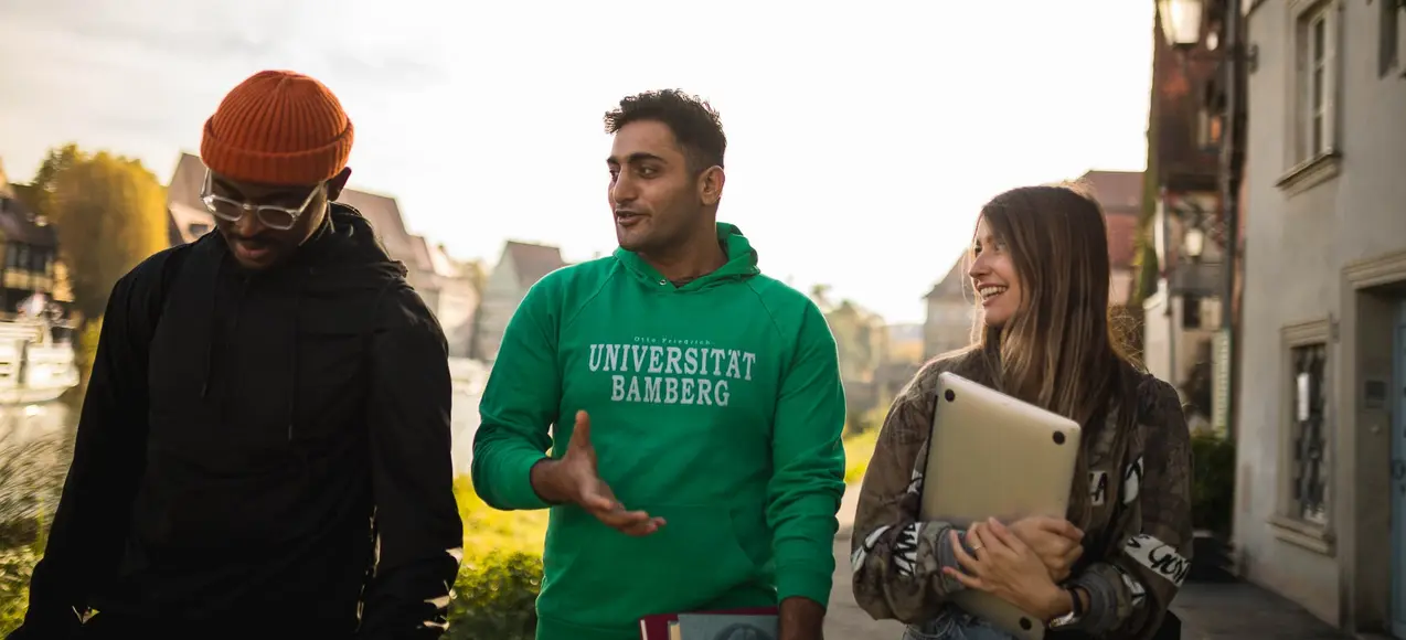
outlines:
[[[924, 470], [922, 519], [966, 527], [997, 518], [1064, 518], [1078, 460], [1080, 426], [952, 373], [938, 376], [938, 404]], [[1021, 639], [1042, 640], [1045, 623], [986, 592], [952, 602]]]

